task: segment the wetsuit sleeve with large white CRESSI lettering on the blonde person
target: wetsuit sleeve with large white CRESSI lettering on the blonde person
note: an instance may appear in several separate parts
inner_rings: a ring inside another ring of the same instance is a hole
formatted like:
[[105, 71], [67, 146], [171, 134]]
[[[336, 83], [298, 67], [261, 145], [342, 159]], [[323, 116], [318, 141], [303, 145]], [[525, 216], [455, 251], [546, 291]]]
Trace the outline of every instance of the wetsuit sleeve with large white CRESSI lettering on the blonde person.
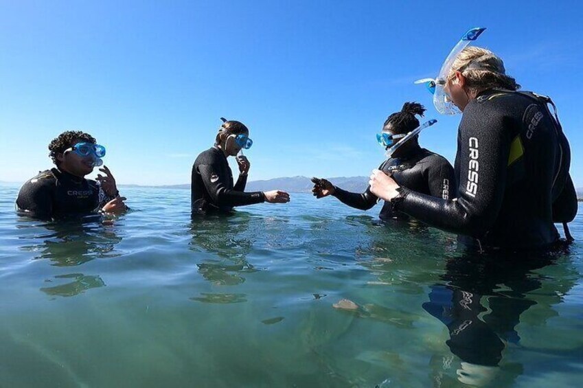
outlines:
[[[473, 109], [470, 109], [473, 108]], [[457, 198], [444, 200], [402, 187], [395, 209], [433, 227], [481, 236], [494, 224], [502, 205], [510, 153], [511, 125], [493, 109], [466, 106], [458, 133]]]

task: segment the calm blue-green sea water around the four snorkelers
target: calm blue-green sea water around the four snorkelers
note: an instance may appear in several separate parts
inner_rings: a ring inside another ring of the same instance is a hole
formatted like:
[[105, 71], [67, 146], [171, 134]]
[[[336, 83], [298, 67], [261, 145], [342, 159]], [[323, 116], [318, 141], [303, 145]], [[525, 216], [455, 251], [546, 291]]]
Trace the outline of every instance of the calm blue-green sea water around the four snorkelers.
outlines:
[[308, 194], [192, 222], [188, 190], [126, 188], [133, 211], [102, 225], [19, 218], [18, 189], [0, 186], [1, 387], [583, 379], [581, 213], [537, 268]]

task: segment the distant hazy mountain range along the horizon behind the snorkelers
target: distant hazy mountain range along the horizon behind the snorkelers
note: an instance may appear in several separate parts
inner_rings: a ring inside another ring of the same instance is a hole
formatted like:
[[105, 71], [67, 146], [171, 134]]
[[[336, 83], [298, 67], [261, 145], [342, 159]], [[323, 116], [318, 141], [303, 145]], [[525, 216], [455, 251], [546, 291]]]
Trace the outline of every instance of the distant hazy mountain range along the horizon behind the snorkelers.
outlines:
[[[367, 176], [339, 176], [329, 178], [332, 184], [342, 187], [350, 192], [363, 192], [368, 186]], [[141, 186], [141, 185], [119, 185], [119, 187], [154, 187], [159, 189], [190, 189], [190, 184], [185, 185], [163, 185], [163, 186]], [[314, 184], [307, 176], [290, 176], [288, 178], [274, 178], [265, 181], [247, 182], [245, 191], [265, 192], [268, 190], [284, 190], [293, 193], [308, 193]]]

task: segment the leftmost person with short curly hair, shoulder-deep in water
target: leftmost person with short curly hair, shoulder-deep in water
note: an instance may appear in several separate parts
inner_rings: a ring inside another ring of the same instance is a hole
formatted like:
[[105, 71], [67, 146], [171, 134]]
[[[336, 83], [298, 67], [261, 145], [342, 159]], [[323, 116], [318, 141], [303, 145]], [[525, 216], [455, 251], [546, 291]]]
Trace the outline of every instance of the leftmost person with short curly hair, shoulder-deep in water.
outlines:
[[16, 209], [23, 216], [54, 220], [66, 216], [126, 211], [115, 178], [100, 168], [97, 181], [85, 179], [93, 168], [103, 164], [105, 147], [79, 130], [67, 130], [49, 144], [49, 157], [56, 168], [39, 172], [26, 181], [16, 198]]

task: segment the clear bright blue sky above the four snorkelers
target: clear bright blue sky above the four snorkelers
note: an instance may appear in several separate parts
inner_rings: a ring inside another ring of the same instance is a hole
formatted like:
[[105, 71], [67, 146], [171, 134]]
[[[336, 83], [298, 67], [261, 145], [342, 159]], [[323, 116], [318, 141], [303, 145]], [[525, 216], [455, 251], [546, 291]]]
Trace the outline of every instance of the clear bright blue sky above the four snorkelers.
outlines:
[[190, 181], [219, 117], [251, 130], [251, 180], [367, 175], [403, 102], [439, 122], [421, 143], [453, 162], [459, 116], [413, 84], [468, 28], [523, 89], [551, 95], [583, 186], [577, 1], [0, 0], [0, 181], [52, 166], [63, 130], [91, 133], [119, 183]]

